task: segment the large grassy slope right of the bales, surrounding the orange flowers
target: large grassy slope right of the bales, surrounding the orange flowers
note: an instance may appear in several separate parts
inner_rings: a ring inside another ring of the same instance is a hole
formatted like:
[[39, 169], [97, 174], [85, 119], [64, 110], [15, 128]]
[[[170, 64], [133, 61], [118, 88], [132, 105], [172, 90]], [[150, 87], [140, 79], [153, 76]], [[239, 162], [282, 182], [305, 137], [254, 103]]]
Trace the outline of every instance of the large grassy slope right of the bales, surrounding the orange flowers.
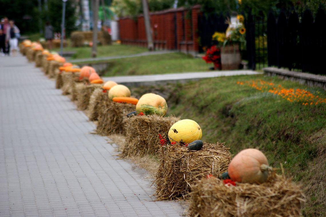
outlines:
[[319, 88], [262, 75], [201, 80], [162, 92], [168, 95], [170, 91], [169, 114], [198, 122], [203, 140], [226, 142], [233, 154], [244, 148], [259, 148], [272, 166], [282, 163], [288, 176], [307, 186], [305, 216], [325, 216], [326, 104], [303, 106], [236, 84], [255, 79], [306, 89], [326, 98]]

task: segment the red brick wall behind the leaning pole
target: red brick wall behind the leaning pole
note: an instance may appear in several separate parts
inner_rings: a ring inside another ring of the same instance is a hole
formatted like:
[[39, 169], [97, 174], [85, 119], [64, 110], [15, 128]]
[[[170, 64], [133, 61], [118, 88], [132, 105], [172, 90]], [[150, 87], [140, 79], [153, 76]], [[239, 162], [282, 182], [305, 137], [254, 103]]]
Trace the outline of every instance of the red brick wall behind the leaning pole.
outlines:
[[[184, 7], [150, 13], [155, 49], [198, 52], [198, 13], [200, 5], [191, 8], [191, 17]], [[123, 44], [147, 46], [143, 15], [120, 19], [119, 30]]]

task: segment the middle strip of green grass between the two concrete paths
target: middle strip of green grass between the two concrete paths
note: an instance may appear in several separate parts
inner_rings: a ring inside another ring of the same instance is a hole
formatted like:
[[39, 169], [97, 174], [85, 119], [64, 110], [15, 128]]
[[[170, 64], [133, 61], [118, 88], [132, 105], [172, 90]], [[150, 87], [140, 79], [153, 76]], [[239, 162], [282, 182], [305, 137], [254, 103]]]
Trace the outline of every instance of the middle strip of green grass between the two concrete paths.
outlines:
[[[100, 61], [103, 62], [103, 61]], [[103, 76], [150, 75], [207, 71], [211, 65], [184, 53], [167, 53], [105, 61], [109, 69]]]

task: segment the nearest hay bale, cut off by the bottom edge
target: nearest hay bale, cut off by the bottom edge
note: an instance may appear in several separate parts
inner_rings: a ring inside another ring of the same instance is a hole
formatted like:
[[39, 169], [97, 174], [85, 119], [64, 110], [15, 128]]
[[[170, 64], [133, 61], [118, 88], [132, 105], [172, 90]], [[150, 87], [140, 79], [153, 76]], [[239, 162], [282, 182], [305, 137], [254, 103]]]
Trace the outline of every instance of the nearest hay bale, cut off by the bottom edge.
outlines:
[[276, 174], [260, 185], [226, 186], [218, 178], [203, 178], [192, 191], [189, 216], [302, 216], [300, 186]]

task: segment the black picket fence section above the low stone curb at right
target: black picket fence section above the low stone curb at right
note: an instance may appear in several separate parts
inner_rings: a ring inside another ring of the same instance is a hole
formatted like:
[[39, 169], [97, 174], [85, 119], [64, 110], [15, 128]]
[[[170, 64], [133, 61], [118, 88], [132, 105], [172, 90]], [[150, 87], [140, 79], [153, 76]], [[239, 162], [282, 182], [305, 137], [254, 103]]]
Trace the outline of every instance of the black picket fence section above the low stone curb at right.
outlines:
[[268, 65], [326, 74], [326, 15], [319, 9], [315, 19], [309, 10], [268, 15]]

